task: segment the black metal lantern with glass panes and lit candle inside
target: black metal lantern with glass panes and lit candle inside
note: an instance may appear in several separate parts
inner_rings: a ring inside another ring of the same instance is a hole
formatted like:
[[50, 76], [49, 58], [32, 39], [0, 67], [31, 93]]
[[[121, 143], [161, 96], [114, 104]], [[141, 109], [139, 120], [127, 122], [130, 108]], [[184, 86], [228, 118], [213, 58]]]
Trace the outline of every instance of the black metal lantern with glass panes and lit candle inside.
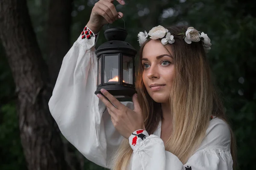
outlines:
[[107, 42], [95, 51], [98, 58], [95, 94], [102, 94], [100, 89], [104, 88], [119, 101], [125, 101], [136, 93], [134, 59], [137, 51], [125, 42], [127, 34], [124, 28], [108, 28], [104, 32]]

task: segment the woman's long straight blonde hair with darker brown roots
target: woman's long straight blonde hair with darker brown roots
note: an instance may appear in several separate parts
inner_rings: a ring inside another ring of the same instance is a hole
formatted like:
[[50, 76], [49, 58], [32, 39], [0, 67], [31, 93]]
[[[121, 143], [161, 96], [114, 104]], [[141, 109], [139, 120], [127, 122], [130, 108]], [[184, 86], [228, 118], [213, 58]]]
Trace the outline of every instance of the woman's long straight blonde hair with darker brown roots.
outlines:
[[[166, 27], [171, 34], [179, 34], [187, 26]], [[163, 118], [161, 104], [154, 102], [143, 83], [142, 51], [147, 40], [140, 48], [136, 91], [143, 111], [144, 124], [148, 134], [152, 134]], [[170, 94], [173, 116], [173, 131], [165, 143], [165, 150], [175, 154], [180, 161], [186, 161], [200, 146], [209, 125], [210, 115], [217, 116], [228, 123], [224, 107], [210, 76], [202, 42], [187, 44], [182, 36], [175, 36], [175, 43], [168, 46], [174, 53], [175, 78]], [[166, 45], [164, 45], [166, 48]], [[167, 49], [167, 48], [166, 48]], [[171, 101], [172, 99], [172, 101]], [[236, 143], [231, 133], [231, 155], [233, 169], [236, 167]], [[187, 140], [189, 139], [189, 140]], [[128, 139], [124, 139], [114, 153], [111, 170], [126, 170], [133, 150]]]

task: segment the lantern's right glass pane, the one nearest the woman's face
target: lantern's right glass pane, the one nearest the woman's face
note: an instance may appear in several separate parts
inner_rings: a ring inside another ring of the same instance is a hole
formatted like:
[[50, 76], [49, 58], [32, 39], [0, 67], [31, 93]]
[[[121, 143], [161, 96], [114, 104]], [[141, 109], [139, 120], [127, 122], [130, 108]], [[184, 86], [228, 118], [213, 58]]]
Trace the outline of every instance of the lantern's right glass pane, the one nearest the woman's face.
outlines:
[[122, 74], [123, 82], [133, 84], [133, 59], [132, 57], [123, 56]]

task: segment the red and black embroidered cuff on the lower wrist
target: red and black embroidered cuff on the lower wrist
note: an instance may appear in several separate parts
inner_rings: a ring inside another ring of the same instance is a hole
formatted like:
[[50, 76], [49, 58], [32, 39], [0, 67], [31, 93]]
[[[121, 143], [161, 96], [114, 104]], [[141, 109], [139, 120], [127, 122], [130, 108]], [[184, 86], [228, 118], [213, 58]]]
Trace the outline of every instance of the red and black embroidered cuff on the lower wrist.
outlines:
[[141, 143], [148, 137], [148, 132], [146, 130], [140, 129], [135, 130], [133, 133], [131, 133], [131, 136], [129, 137], [129, 143], [133, 150], [137, 150]]

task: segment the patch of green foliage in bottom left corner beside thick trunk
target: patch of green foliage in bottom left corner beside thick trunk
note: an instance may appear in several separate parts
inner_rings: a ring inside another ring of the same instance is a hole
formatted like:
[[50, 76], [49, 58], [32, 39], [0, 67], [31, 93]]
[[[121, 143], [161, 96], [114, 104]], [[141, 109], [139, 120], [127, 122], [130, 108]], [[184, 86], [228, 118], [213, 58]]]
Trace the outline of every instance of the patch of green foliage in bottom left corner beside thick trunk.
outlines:
[[26, 170], [26, 161], [20, 144], [15, 103], [10, 102], [9, 104], [3, 105], [0, 109], [0, 169]]

